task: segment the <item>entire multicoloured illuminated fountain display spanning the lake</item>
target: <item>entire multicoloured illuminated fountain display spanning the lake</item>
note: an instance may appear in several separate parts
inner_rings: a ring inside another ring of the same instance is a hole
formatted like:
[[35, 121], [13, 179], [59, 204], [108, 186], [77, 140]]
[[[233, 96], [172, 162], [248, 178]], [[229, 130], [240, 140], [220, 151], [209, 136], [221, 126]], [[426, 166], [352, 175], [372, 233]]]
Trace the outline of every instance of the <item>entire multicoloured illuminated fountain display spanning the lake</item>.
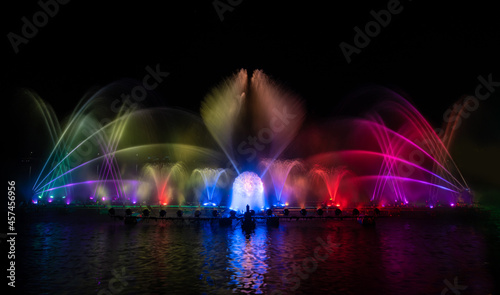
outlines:
[[43, 100], [28, 94], [53, 142], [33, 183], [33, 202], [64, 197], [68, 204], [224, 204], [241, 211], [248, 204], [259, 212], [288, 203], [472, 202], [450, 143], [386, 89], [371, 92], [383, 99], [363, 118], [300, 134], [293, 142], [300, 160], [283, 151], [299, 133], [302, 105], [261, 71], [251, 77], [239, 71], [214, 88], [201, 117], [162, 106], [102, 111], [115, 88], [82, 100], [64, 128]]

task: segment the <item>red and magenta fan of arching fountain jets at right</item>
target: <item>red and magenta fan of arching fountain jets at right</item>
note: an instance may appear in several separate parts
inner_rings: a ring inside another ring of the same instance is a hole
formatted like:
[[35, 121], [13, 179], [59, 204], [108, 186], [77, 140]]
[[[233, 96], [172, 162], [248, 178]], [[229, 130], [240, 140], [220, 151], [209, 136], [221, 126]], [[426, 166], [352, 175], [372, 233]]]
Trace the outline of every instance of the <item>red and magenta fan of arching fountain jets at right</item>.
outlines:
[[383, 99], [365, 118], [336, 121], [328, 130], [335, 150], [315, 154], [308, 162], [352, 171], [349, 181], [358, 192], [351, 203], [455, 204], [469, 188], [430, 124], [393, 91], [372, 89], [369, 95]]

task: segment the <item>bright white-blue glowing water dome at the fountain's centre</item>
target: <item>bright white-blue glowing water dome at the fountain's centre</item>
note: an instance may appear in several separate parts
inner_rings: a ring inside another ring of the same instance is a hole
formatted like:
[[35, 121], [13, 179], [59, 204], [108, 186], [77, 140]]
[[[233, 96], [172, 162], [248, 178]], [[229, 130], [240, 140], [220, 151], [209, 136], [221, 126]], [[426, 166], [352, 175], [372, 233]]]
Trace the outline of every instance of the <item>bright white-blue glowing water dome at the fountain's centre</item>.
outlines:
[[253, 210], [264, 207], [264, 184], [257, 174], [249, 171], [241, 173], [234, 180], [231, 208], [245, 211], [247, 204]]

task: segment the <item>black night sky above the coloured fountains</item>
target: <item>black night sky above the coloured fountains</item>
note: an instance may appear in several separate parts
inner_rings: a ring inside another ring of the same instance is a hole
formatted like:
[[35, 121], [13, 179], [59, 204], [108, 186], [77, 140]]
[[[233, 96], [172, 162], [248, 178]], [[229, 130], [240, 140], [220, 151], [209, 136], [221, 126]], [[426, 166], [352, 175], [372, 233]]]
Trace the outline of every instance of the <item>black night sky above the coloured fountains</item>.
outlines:
[[[146, 66], [160, 64], [170, 73], [156, 89], [164, 103], [198, 112], [224, 77], [263, 69], [306, 101], [308, 118], [335, 115], [346, 94], [374, 83], [404, 91], [440, 125], [453, 102], [474, 94], [478, 75], [500, 80], [492, 4], [401, 1], [402, 11], [348, 64], [339, 44], [353, 44], [353, 28], [390, 1], [269, 2], [244, 0], [221, 21], [211, 1], [71, 1], [15, 54], [7, 34], [21, 34], [21, 18], [40, 10], [36, 1], [18, 2], [2, 15], [4, 93], [31, 88], [64, 117], [90, 88], [140, 80]], [[498, 92], [483, 104], [490, 115]], [[498, 143], [498, 128], [489, 128], [483, 137]]]

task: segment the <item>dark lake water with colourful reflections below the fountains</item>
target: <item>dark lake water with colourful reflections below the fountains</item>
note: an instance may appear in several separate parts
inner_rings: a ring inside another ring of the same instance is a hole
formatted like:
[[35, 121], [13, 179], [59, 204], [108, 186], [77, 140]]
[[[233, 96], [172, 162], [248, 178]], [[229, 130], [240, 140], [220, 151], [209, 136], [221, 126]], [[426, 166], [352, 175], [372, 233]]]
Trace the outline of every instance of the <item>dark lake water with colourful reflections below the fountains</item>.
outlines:
[[[498, 294], [486, 221], [258, 224], [41, 214], [18, 222], [19, 294]], [[458, 292], [458, 293], [455, 293]]]

